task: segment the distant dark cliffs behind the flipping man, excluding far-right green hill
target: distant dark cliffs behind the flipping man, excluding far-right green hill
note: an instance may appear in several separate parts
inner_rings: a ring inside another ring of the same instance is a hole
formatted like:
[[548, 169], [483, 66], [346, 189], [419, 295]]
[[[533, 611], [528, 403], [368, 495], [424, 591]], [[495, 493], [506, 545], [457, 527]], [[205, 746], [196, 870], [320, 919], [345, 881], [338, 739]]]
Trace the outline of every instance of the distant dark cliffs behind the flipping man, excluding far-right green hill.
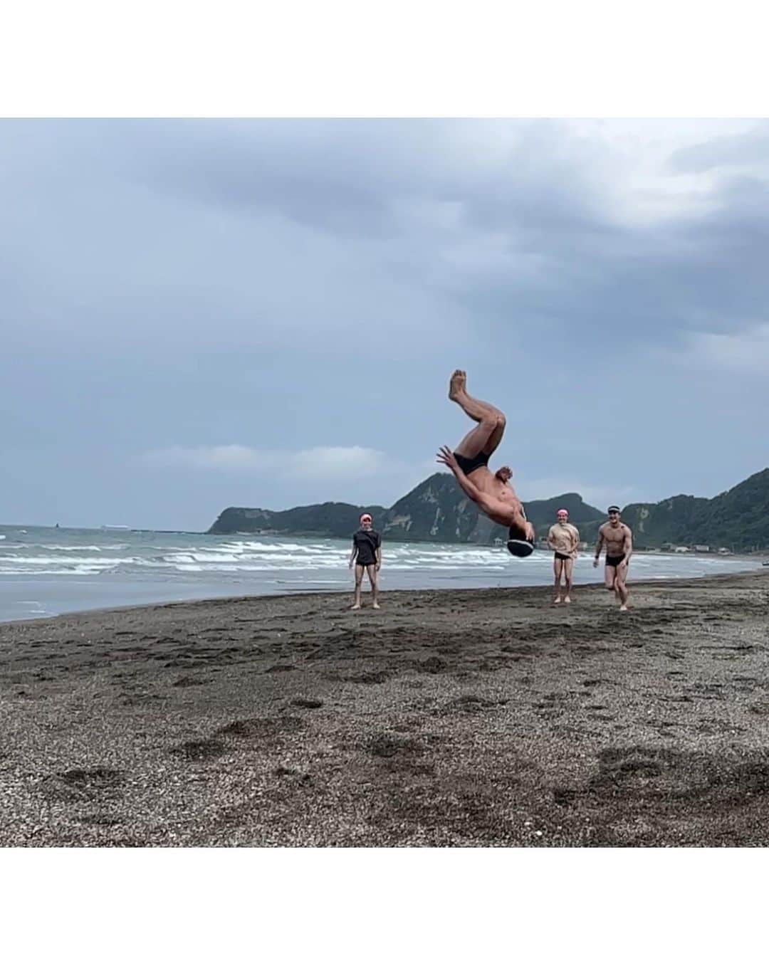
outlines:
[[[537, 532], [546, 533], [558, 507], [565, 506], [570, 520], [580, 526], [600, 521], [605, 515], [583, 502], [579, 494], [562, 494], [547, 501], [531, 501], [526, 513]], [[506, 537], [507, 530], [481, 514], [451, 474], [434, 474], [423, 480], [391, 507], [380, 505], [317, 504], [290, 510], [260, 507], [228, 507], [222, 511], [211, 534], [273, 533], [315, 534], [349, 537], [358, 528], [360, 514], [367, 511], [374, 527], [393, 540], [441, 543], [490, 544]]]

